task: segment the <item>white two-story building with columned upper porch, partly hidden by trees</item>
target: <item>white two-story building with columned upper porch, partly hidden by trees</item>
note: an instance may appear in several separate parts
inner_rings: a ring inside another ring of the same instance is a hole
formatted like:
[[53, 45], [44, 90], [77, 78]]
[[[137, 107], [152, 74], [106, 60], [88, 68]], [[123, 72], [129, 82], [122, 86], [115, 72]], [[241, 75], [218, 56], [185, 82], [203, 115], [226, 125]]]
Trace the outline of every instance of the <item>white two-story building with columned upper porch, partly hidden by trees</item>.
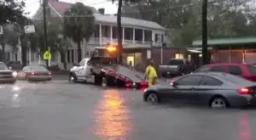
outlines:
[[[58, 0], [48, 0], [50, 15], [62, 17], [64, 11], [69, 8], [72, 3], [63, 3]], [[94, 47], [105, 46], [107, 43], [117, 44], [117, 18], [113, 15], [104, 14], [104, 9], [92, 8], [96, 19], [96, 31], [90, 37], [89, 42], [82, 45], [82, 57], [88, 57]], [[38, 8], [37, 13], [33, 16], [33, 20], [42, 20], [43, 7]], [[166, 43], [166, 29], [161, 25], [146, 20], [137, 20], [132, 18], [121, 18], [122, 35], [123, 35], [123, 63], [132, 62], [132, 65], [143, 63], [142, 49], [161, 47]], [[144, 52], [144, 53], [143, 53]], [[38, 56], [32, 53], [29, 55], [31, 63], [38, 63]], [[72, 43], [67, 51], [67, 67], [71, 67], [74, 62], [78, 61], [77, 45]], [[149, 58], [148, 58], [149, 59]], [[62, 68], [61, 56], [58, 53], [52, 54], [51, 65], [58, 64]]]

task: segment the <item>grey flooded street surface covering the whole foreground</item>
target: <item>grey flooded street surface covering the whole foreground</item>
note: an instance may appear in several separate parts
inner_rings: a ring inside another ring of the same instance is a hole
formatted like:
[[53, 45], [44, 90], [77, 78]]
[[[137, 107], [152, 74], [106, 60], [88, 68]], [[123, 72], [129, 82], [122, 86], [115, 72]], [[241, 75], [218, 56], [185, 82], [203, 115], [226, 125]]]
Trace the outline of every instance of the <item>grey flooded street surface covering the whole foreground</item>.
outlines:
[[0, 85], [1, 140], [255, 140], [255, 109], [148, 104], [63, 80]]

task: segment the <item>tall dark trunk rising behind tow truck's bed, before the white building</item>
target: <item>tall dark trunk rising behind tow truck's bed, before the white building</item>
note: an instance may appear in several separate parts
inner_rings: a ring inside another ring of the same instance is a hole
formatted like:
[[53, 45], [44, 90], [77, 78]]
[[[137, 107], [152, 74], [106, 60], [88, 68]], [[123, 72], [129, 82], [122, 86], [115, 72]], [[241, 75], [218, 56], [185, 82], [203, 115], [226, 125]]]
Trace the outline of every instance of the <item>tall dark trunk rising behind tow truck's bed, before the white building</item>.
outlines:
[[123, 36], [122, 36], [122, 25], [121, 25], [121, 14], [122, 14], [122, 5], [123, 5], [123, 1], [119, 0], [119, 6], [118, 6], [118, 12], [117, 12], [117, 35], [118, 35], [118, 47], [119, 47], [119, 55], [118, 55], [118, 59], [119, 59], [119, 63], [122, 63], [122, 53], [123, 53]]

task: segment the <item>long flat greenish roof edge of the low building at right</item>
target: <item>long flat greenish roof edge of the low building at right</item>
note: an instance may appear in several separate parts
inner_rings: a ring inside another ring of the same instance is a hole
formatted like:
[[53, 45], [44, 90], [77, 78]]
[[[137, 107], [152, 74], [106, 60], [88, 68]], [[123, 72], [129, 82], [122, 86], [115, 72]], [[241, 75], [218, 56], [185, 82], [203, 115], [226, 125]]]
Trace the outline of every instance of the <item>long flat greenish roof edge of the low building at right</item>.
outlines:
[[[193, 46], [201, 46], [201, 40], [194, 41]], [[256, 43], [256, 36], [240, 37], [240, 38], [222, 38], [222, 39], [210, 39], [208, 45], [235, 45], [235, 44], [248, 44]]]

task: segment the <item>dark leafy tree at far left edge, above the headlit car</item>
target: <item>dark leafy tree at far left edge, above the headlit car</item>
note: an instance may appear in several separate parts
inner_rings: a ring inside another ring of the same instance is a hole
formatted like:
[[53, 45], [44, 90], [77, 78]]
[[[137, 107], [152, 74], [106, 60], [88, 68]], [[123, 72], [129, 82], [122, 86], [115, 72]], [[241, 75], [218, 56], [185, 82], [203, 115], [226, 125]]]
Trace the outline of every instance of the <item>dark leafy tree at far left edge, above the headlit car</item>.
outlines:
[[12, 47], [16, 47], [18, 44], [19, 36], [18, 32], [15, 32], [14, 25], [3, 25], [3, 35], [0, 35], [0, 45], [1, 45], [1, 61], [4, 60], [5, 47], [9, 44]]

